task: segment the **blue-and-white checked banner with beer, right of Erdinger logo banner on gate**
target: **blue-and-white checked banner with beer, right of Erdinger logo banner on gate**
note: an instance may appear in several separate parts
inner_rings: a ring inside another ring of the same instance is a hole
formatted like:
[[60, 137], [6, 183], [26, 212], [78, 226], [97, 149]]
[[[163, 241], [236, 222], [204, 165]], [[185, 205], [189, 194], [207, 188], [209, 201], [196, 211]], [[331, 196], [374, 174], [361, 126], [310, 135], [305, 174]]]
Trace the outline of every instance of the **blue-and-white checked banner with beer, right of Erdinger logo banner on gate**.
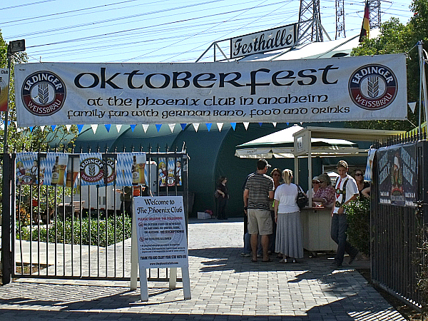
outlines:
[[146, 185], [146, 153], [119, 153], [116, 185]]

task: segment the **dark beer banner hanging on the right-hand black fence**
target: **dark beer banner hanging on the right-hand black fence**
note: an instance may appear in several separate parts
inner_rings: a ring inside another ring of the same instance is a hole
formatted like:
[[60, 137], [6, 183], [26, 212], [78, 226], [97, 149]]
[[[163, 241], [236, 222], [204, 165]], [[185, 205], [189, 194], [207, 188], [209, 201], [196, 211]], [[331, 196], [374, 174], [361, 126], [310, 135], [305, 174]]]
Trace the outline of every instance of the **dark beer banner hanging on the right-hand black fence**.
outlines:
[[416, 144], [379, 148], [379, 203], [416, 206]]

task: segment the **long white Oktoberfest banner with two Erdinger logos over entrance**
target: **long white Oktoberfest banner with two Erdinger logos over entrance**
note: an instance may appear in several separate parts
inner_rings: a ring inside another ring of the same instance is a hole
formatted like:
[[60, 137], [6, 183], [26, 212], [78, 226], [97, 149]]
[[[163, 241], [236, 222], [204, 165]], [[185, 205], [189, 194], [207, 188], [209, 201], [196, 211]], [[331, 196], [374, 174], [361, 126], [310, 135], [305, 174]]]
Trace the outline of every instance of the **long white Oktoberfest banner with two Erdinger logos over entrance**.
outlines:
[[231, 63], [26, 63], [19, 126], [407, 118], [404, 54]]

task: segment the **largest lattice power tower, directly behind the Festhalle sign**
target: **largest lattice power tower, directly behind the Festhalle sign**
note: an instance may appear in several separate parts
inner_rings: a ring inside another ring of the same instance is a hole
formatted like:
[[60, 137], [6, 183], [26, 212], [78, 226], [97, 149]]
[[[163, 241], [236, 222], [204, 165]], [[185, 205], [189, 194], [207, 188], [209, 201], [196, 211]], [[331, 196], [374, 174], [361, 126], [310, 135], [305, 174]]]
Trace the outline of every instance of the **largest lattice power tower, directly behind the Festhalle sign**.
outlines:
[[300, 44], [307, 41], [322, 41], [320, 0], [300, 0], [298, 28]]

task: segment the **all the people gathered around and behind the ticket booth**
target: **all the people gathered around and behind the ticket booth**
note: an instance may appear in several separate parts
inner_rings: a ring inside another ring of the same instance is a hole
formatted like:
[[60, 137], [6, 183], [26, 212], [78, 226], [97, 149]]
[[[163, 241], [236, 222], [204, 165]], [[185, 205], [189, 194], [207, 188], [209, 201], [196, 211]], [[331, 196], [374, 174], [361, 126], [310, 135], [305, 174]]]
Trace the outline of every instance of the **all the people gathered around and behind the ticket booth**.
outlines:
[[[243, 185], [243, 201], [246, 225], [244, 235], [244, 257], [252, 262], [272, 262], [270, 255], [276, 253], [281, 263], [297, 263], [303, 258], [302, 226], [297, 195], [300, 186], [292, 183], [292, 170], [274, 168], [265, 159], [257, 162], [257, 170], [248, 175]], [[345, 161], [337, 163], [338, 176], [334, 186], [327, 173], [312, 179], [312, 207], [328, 208], [332, 211], [331, 238], [337, 243], [337, 254], [331, 267], [341, 267], [345, 252], [351, 264], [359, 251], [347, 242], [347, 218], [344, 205], [357, 198], [370, 198], [370, 183], [364, 180], [362, 170], [348, 175]], [[225, 203], [228, 190], [227, 179], [221, 177], [216, 193], [219, 198], [220, 219], [225, 218]], [[302, 191], [303, 192], [303, 191]], [[220, 206], [220, 204], [222, 204]], [[224, 204], [224, 206], [223, 206]], [[221, 208], [221, 209], [220, 209]], [[259, 260], [261, 258], [262, 260]]]

